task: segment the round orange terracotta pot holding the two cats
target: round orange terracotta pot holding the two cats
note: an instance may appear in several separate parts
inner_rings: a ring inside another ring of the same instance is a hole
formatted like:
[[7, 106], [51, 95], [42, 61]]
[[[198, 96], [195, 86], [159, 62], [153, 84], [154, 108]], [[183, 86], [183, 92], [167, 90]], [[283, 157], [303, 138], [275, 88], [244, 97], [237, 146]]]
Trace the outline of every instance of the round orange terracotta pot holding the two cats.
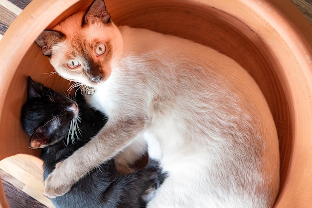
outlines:
[[[0, 42], [0, 159], [38, 155], [19, 123], [26, 76], [57, 90], [53, 72], [33, 43], [45, 28], [91, 0], [33, 0]], [[106, 0], [116, 24], [145, 27], [208, 45], [254, 77], [274, 116], [280, 140], [281, 189], [276, 208], [312, 206], [312, 27], [289, 0]], [[1, 196], [2, 207], [7, 207]]]

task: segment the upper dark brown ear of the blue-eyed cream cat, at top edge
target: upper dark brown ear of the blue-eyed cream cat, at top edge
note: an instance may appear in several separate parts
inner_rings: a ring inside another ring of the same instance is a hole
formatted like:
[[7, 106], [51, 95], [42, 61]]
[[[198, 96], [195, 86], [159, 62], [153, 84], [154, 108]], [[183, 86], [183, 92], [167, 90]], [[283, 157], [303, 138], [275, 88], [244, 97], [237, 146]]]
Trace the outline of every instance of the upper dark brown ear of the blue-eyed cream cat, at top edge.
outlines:
[[111, 15], [106, 9], [104, 0], [94, 0], [83, 18], [82, 26], [96, 21], [108, 23], [110, 20]]

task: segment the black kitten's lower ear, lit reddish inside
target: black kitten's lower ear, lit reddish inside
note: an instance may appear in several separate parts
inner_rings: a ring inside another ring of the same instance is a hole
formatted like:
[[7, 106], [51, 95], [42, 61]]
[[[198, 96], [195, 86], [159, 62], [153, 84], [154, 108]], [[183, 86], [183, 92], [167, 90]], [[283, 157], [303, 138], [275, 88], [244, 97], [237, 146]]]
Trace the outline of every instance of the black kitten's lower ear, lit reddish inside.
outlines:
[[38, 127], [30, 137], [28, 144], [29, 148], [38, 149], [46, 147], [51, 141], [51, 139], [47, 135], [48, 132], [46, 128]]

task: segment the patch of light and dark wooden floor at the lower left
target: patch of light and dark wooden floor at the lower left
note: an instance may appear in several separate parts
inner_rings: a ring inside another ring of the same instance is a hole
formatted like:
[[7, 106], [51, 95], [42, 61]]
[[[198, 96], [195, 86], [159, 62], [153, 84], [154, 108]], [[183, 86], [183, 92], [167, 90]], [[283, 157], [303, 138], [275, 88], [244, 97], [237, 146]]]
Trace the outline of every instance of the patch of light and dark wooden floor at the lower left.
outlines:
[[43, 196], [42, 161], [17, 155], [0, 161], [1, 183], [10, 208], [54, 208]]

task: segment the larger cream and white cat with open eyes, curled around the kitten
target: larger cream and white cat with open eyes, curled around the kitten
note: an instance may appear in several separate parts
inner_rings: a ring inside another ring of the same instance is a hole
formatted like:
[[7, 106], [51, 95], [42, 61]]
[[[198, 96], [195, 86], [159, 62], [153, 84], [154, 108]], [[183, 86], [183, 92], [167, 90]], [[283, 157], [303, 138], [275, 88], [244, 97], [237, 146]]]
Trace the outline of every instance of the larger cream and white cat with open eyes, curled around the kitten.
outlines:
[[47, 196], [66, 193], [147, 133], [159, 144], [167, 173], [148, 208], [273, 206], [277, 130], [260, 88], [234, 60], [180, 37], [117, 26], [103, 0], [35, 42], [60, 76], [92, 89], [87, 102], [108, 116], [99, 133], [48, 176]]

